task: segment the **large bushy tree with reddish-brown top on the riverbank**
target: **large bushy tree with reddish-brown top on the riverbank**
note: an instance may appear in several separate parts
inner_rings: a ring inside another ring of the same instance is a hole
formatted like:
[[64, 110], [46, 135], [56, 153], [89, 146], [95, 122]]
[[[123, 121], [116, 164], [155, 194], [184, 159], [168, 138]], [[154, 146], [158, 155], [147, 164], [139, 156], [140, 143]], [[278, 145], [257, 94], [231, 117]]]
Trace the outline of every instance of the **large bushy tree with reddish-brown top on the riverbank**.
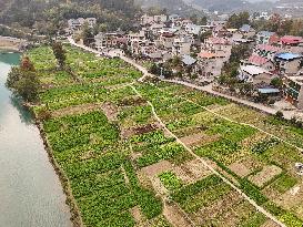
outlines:
[[38, 100], [40, 80], [28, 56], [23, 56], [19, 66], [12, 68], [6, 85], [27, 102]]

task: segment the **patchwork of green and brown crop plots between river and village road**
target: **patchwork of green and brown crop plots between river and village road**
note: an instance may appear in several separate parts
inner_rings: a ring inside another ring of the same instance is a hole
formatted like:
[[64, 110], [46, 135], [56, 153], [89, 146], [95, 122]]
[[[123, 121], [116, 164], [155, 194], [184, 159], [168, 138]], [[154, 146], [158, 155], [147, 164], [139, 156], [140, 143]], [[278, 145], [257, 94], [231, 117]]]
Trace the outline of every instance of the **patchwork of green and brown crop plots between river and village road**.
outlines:
[[48, 47], [29, 52], [43, 83], [33, 111], [51, 113], [46, 138], [85, 226], [279, 226], [226, 178], [302, 227], [300, 128], [181, 85], [139, 83], [121, 60], [65, 49], [69, 73]]

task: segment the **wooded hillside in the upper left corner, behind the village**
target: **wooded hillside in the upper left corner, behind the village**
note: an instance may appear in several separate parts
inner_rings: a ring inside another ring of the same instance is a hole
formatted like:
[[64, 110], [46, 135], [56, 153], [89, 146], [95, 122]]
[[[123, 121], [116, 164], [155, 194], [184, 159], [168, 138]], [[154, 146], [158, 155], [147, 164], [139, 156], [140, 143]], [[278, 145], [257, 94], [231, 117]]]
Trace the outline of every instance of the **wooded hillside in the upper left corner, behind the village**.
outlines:
[[139, 12], [133, 0], [0, 0], [0, 23], [36, 28], [42, 33], [79, 17], [95, 17], [99, 23], [127, 29]]

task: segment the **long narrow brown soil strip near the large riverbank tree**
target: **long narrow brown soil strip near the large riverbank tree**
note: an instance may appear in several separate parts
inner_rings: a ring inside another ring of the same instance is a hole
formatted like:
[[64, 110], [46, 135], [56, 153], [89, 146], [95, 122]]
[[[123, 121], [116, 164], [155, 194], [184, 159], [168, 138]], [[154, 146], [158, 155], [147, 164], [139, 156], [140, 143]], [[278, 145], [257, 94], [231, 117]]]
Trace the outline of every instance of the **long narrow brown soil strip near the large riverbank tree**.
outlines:
[[67, 115], [83, 114], [83, 113], [92, 112], [94, 110], [100, 110], [100, 109], [101, 109], [100, 103], [88, 103], [88, 104], [74, 105], [74, 106], [69, 106], [58, 111], [53, 111], [51, 115], [52, 117], [62, 117]]

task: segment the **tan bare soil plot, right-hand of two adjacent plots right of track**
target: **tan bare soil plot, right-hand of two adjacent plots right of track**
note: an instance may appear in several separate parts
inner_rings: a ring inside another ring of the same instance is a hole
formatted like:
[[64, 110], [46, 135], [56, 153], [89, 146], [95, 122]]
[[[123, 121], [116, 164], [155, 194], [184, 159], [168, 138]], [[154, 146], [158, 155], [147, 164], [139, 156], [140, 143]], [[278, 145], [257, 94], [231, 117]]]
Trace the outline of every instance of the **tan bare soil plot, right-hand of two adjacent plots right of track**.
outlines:
[[265, 166], [257, 174], [250, 176], [249, 179], [259, 187], [264, 186], [273, 177], [281, 174], [282, 169], [275, 165]]

